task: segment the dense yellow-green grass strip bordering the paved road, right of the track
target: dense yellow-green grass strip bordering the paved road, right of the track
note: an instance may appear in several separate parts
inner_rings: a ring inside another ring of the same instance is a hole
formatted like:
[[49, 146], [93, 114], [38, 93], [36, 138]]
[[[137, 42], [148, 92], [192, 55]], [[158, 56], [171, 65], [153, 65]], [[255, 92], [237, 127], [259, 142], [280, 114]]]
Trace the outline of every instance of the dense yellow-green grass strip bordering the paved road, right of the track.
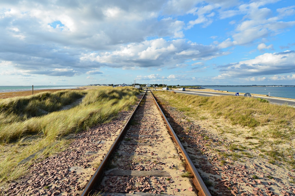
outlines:
[[[165, 98], [173, 107], [185, 111], [188, 115], [204, 110], [211, 113], [212, 116], [230, 119], [233, 125], [238, 124], [249, 128], [270, 123], [287, 128], [295, 119], [295, 108], [286, 105], [269, 104], [254, 98], [235, 96], [203, 97], [163, 91], [155, 91], [154, 94]], [[201, 120], [207, 119], [202, 115], [200, 116]]]

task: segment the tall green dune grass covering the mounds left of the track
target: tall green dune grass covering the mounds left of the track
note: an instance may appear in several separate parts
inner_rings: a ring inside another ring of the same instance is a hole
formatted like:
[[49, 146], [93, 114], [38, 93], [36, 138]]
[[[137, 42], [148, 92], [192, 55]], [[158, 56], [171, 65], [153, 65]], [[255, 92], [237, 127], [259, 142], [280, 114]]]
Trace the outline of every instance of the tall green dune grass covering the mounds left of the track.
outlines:
[[[57, 91], [0, 100], [0, 186], [23, 175], [32, 161], [46, 158], [69, 143], [66, 135], [112, 120], [135, 104], [135, 88]], [[76, 106], [64, 110], [64, 106]], [[44, 149], [32, 161], [24, 158]]]

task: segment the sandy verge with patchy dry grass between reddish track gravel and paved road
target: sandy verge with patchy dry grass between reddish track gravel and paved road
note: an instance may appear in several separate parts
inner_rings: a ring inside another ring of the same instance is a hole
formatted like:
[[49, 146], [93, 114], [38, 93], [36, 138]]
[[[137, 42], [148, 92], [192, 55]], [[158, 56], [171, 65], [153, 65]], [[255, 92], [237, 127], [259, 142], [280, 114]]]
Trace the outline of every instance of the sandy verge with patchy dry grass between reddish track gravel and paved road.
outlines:
[[[269, 163], [287, 168], [295, 168], [295, 108], [287, 105], [274, 105], [264, 99], [212, 96], [203, 97], [183, 95], [168, 91], [154, 91], [162, 101], [178, 108], [188, 116], [187, 120], [213, 119], [210, 127], [226, 139], [240, 138], [244, 141], [225, 146], [232, 153], [232, 159], [252, 156], [246, 153], [250, 148], [259, 151], [258, 157], [265, 158]], [[242, 131], [222, 123], [242, 127]], [[246, 129], [245, 129], [246, 128]], [[245, 131], [246, 130], [246, 131]], [[226, 158], [226, 157], [225, 157]]]

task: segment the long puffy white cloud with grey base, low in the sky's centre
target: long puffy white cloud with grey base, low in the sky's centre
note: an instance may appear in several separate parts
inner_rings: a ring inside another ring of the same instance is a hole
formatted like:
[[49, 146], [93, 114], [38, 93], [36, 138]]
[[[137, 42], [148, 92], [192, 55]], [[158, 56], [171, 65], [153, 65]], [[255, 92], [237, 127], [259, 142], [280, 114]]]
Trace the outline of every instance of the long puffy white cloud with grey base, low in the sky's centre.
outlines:
[[177, 65], [187, 59], [204, 60], [226, 55], [215, 46], [186, 42], [184, 39], [166, 41], [163, 38], [128, 44], [120, 50], [102, 53], [86, 53], [83, 62], [107, 63], [108, 66], [157, 67]]

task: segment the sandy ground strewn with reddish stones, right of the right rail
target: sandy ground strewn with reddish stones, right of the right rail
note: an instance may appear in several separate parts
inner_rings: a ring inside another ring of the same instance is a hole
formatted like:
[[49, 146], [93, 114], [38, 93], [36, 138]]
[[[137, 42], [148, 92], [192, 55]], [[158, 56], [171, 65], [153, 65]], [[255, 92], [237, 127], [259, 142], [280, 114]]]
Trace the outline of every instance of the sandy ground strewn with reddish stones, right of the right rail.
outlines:
[[206, 113], [200, 120], [166, 104], [163, 108], [201, 177], [211, 184], [212, 195], [295, 195], [295, 170], [282, 162], [269, 163], [250, 145], [257, 141], [249, 137], [249, 128]]

